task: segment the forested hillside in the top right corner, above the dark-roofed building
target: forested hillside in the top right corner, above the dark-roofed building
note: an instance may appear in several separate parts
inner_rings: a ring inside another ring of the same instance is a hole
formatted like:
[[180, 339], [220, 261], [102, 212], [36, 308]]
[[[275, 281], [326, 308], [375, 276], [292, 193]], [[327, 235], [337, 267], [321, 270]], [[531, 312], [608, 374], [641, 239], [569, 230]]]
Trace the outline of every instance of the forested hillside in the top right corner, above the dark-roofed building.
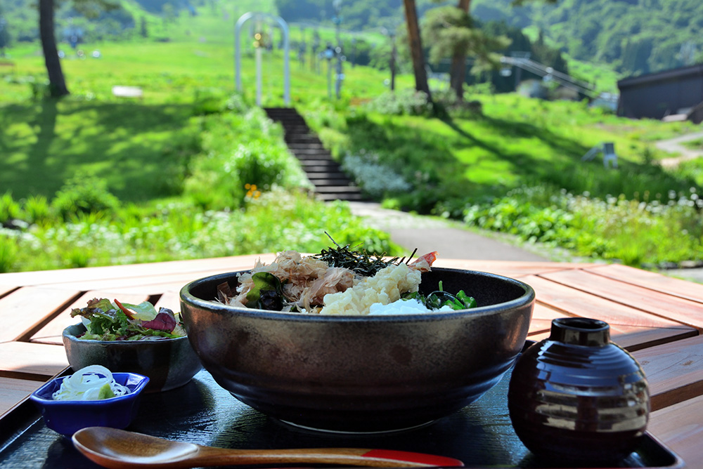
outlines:
[[505, 20], [541, 29], [573, 58], [612, 65], [638, 75], [703, 60], [703, 2], [699, 0], [535, 1], [514, 8], [510, 0], [474, 0], [482, 20]]

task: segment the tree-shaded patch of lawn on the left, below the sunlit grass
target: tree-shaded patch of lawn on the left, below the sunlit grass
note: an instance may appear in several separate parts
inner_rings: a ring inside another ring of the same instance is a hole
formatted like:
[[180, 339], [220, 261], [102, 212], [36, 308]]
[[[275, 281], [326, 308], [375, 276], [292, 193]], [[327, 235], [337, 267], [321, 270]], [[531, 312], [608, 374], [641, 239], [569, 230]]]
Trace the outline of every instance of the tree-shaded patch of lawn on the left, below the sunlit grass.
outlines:
[[[0, 187], [15, 199], [53, 197], [67, 178], [89, 169], [125, 202], [177, 191], [183, 159], [175, 146], [195, 131], [191, 106], [43, 100], [0, 115]], [[176, 156], [174, 156], [176, 155]]]

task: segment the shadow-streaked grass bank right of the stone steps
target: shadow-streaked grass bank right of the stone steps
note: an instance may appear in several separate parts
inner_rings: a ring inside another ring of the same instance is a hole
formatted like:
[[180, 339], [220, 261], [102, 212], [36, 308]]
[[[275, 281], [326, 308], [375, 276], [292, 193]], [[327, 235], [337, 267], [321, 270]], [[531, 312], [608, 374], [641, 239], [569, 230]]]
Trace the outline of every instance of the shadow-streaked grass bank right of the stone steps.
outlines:
[[[619, 169], [614, 170], [606, 169], [599, 159], [581, 161], [590, 147], [529, 122], [489, 116], [433, 120], [415, 128], [411, 120], [406, 126], [404, 121], [392, 118], [381, 119], [380, 123], [366, 116], [350, 119], [349, 151], [376, 152], [406, 178], [413, 171], [432, 173], [437, 186], [444, 187], [443, 197], [503, 195], [512, 186], [496, 181], [511, 177], [517, 180], [514, 185], [553, 185], [574, 194], [588, 191], [594, 197], [625, 194], [634, 198], [645, 191], [688, 190], [695, 185], [691, 178], [666, 172], [657, 165], [621, 159]], [[476, 123], [475, 131], [472, 122]], [[446, 128], [451, 129], [449, 135]], [[495, 162], [493, 176], [498, 177], [490, 180], [489, 175], [486, 183], [467, 178], [475, 162], [461, 161], [457, 154], [472, 149], [480, 150], [477, 154], [482, 171], [486, 167], [491, 171], [491, 161]]]

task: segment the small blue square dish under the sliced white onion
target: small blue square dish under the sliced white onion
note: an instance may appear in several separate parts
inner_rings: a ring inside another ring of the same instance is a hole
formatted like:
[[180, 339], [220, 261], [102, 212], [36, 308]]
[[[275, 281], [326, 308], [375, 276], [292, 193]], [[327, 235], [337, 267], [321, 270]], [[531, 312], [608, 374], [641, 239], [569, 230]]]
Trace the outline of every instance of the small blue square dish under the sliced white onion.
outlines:
[[135, 373], [113, 373], [118, 384], [127, 386], [129, 393], [101, 400], [54, 400], [51, 396], [68, 376], [54, 378], [32, 392], [34, 401], [44, 417], [46, 426], [71, 436], [86, 427], [126, 428], [136, 416], [139, 397], [149, 378]]

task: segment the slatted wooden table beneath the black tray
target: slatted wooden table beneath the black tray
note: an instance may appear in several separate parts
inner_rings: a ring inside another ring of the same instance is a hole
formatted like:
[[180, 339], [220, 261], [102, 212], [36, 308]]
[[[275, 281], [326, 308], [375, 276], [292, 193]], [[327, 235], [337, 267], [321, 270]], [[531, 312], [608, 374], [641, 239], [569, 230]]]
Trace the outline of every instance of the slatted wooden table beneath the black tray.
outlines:
[[[95, 297], [150, 300], [179, 308], [181, 287], [244, 270], [273, 254], [0, 274], [1, 419], [67, 366], [61, 331], [70, 310]], [[521, 279], [536, 291], [529, 338], [548, 336], [556, 317], [608, 322], [614, 342], [645, 369], [652, 394], [648, 429], [695, 467], [703, 461], [703, 285], [622, 265], [441, 259]]]

